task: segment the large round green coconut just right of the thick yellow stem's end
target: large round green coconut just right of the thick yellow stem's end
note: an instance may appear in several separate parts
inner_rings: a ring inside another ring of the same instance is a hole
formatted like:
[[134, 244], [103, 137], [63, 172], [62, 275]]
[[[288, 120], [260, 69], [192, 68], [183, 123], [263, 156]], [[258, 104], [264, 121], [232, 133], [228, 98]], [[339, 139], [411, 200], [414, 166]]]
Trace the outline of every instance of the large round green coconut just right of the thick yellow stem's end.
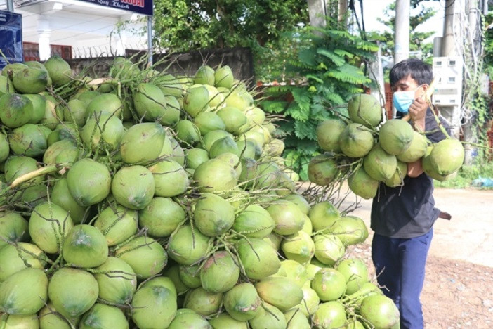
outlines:
[[70, 168], [67, 186], [79, 205], [96, 205], [110, 194], [110, 172], [104, 164], [90, 158], [82, 159]]

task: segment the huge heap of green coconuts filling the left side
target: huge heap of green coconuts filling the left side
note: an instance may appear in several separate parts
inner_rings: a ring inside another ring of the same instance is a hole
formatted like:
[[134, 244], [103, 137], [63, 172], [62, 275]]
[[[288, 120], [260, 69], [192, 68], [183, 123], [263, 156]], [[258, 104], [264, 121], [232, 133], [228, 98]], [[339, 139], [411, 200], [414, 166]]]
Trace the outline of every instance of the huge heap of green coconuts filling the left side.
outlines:
[[299, 188], [230, 67], [174, 77], [143, 62], [2, 70], [0, 328], [396, 325], [346, 255], [362, 219]]

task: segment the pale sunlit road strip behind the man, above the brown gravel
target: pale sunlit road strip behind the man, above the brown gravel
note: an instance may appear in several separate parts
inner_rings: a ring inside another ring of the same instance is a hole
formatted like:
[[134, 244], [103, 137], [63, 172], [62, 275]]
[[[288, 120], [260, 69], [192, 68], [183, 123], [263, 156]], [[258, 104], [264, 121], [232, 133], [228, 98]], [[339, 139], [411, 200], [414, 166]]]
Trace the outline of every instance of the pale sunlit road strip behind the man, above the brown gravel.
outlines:
[[[451, 214], [452, 220], [436, 221], [430, 254], [493, 267], [493, 191], [436, 188], [433, 195], [435, 206]], [[372, 201], [360, 200], [361, 207], [352, 214], [369, 227]]]

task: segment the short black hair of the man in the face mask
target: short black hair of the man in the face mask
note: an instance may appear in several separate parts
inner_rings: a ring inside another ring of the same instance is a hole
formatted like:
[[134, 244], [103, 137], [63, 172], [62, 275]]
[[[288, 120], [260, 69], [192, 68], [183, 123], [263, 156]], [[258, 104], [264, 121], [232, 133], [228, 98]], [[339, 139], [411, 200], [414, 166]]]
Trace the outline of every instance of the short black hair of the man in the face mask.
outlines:
[[430, 65], [416, 58], [402, 60], [390, 70], [390, 86], [395, 86], [401, 79], [411, 76], [418, 85], [430, 84], [433, 79], [433, 71]]

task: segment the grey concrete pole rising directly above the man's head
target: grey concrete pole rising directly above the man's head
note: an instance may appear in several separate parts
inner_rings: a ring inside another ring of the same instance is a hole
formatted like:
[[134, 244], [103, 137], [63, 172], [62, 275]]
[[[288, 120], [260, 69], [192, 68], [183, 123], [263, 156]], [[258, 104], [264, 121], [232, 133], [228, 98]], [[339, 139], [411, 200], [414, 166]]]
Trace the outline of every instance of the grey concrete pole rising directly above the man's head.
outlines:
[[409, 11], [410, 0], [395, 1], [394, 64], [409, 58]]

